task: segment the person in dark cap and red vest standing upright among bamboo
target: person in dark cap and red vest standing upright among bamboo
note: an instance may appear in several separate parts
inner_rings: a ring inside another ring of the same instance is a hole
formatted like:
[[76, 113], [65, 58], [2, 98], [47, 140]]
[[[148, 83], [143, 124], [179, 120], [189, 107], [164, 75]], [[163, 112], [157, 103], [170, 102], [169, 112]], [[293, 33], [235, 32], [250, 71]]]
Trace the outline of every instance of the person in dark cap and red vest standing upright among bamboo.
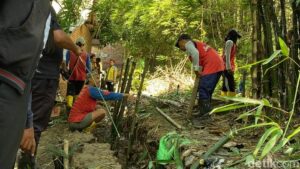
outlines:
[[225, 62], [225, 70], [223, 73], [222, 96], [235, 96], [235, 55], [237, 51], [237, 40], [242, 36], [234, 29], [230, 30], [225, 38], [225, 48], [223, 52], [223, 60]]

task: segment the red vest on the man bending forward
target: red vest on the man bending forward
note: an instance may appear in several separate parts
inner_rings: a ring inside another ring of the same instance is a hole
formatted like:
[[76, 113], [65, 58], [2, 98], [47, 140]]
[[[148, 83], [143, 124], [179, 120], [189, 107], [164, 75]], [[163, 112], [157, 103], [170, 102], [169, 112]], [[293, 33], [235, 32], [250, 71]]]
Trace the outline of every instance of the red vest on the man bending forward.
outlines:
[[[199, 51], [199, 65], [202, 66], [201, 75], [209, 75], [224, 71], [224, 62], [214, 48], [202, 42], [195, 42]], [[192, 57], [190, 57], [192, 61]]]

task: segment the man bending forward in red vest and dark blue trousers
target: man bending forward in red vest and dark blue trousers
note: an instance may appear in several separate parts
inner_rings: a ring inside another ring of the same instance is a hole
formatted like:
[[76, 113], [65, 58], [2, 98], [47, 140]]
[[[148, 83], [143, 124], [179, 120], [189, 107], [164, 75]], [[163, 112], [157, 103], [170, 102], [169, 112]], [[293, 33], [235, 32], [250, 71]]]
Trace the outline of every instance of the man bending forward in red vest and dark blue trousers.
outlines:
[[201, 77], [198, 89], [200, 113], [193, 119], [193, 123], [197, 123], [201, 116], [211, 111], [212, 94], [224, 71], [224, 63], [215, 49], [203, 42], [192, 40], [187, 34], [179, 36], [176, 47], [187, 52], [196, 76]]

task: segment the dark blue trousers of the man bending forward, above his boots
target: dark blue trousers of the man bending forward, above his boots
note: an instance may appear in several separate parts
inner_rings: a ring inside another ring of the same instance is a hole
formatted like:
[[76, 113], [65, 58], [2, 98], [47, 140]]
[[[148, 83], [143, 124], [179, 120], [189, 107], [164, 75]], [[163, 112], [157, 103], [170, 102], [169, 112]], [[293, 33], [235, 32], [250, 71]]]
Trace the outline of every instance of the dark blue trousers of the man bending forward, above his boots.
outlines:
[[200, 100], [210, 100], [216, 85], [222, 75], [221, 72], [201, 76], [199, 85], [199, 99]]

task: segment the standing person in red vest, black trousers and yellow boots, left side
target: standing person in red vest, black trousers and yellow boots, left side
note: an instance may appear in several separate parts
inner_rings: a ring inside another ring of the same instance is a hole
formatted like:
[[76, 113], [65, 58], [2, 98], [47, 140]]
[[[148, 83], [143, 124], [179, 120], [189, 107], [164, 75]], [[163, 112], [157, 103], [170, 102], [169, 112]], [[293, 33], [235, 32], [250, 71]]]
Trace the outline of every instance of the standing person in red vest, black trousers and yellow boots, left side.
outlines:
[[85, 40], [79, 37], [76, 45], [82, 49], [82, 54], [77, 57], [72, 51], [66, 53], [66, 65], [69, 67], [70, 77], [67, 85], [67, 107], [71, 108], [77, 95], [80, 93], [86, 80], [87, 72], [91, 71], [90, 57], [84, 50]]

